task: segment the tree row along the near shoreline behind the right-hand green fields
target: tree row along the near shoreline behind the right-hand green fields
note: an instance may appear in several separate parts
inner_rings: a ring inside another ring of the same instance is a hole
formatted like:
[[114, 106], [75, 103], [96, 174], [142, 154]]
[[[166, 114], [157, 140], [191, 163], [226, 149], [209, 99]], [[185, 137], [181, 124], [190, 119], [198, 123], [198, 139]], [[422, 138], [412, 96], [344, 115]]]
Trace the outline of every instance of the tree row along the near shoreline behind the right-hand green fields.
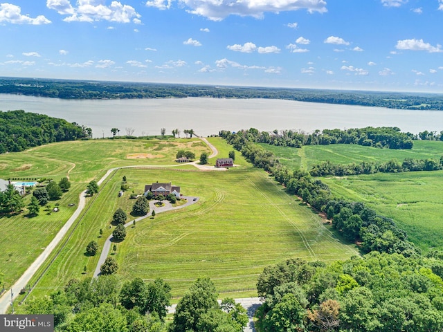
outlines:
[[[226, 137], [229, 131], [220, 131]], [[389, 149], [412, 149], [413, 133], [403, 133], [397, 127], [365, 127], [354, 129], [324, 129], [313, 133], [292, 130], [258, 131], [255, 128], [241, 130], [233, 136], [233, 145], [241, 145], [242, 140], [267, 143], [282, 147], [302, 147], [303, 145], [357, 144], [366, 147]]]

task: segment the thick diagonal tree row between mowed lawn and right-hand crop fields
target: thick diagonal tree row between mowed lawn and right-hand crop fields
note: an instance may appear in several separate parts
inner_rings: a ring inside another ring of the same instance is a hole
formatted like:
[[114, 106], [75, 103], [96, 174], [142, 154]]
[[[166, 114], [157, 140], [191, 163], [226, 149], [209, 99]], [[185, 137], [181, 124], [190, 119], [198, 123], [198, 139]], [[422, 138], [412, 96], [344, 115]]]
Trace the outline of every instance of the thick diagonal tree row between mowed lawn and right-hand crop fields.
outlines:
[[327, 214], [327, 218], [332, 220], [332, 226], [345, 239], [361, 242], [363, 252], [378, 250], [397, 252], [405, 256], [421, 252], [408, 241], [406, 232], [398, 228], [392, 219], [378, 214], [361, 202], [336, 199], [325, 183], [312, 178], [308, 172], [289, 171], [280, 164], [272, 151], [250, 142], [248, 131], [224, 131], [222, 136], [253, 165], [272, 174], [278, 183], [287, 188], [289, 194], [298, 195], [305, 203]]

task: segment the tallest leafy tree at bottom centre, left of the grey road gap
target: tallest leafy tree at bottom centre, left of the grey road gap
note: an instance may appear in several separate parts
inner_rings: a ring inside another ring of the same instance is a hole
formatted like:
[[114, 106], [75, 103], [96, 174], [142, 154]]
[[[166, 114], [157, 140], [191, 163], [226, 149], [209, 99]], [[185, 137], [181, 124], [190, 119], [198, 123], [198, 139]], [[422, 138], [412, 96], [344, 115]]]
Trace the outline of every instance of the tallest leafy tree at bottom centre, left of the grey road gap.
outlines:
[[198, 331], [200, 317], [219, 308], [218, 293], [208, 277], [199, 278], [177, 304], [170, 332]]

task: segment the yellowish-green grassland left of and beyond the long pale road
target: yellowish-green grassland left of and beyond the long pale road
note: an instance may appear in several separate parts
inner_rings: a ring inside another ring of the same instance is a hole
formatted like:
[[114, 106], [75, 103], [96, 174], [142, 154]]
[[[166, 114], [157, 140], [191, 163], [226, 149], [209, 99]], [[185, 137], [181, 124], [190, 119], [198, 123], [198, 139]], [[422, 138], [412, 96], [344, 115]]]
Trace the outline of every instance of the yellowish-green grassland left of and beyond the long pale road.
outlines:
[[[69, 176], [72, 183], [60, 201], [49, 201], [52, 208], [55, 203], [60, 204], [60, 212], [51, 213], [42, 207], [33, 218], [28, 218], [26, 212], [0, 218], [3, 230], [0, 232], [0, 273], [3, 273], [4, 284], [13, 284], [51, 242], [75, 210], [78, 196], [89, 181], [98, 180], [112, 167], [174, 165], [179, 149], [193, 151], [196, 156], [202, 151], [210, 152], [199, 139], [152, 139], [60, 142], [0, 155], [0, 178], [53, 178], [58, 182]], [[25, 204], [29, 201], [27, 196]], [[75, 206], [69, 207], [69, 203]]]

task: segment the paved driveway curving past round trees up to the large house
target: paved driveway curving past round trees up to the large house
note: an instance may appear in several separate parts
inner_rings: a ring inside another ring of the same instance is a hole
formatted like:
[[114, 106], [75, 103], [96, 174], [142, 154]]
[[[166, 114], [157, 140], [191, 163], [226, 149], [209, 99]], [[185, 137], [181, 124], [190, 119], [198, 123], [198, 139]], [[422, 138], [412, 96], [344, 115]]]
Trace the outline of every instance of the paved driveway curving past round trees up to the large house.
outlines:
[[[165, 206], [162, 206], [161, 208], [156, 207], [154, 205], [155, 200], [150, 201], [150, 214], [146, 214], [145, 216], [140, 216], [135, 219], [136, 225], [138, 225], [138, 221], [141, 221], [143, 219], [146, 219], [147, 217], [151, 216], [152, 211], [155, 211], [155, 214], [159, 214], [161, 212], [171, 211], [171, 210], [178, 210], [186, 208], [189, 205], [197, 203], [200, 199], [199, 197], [195, 196], [182, 196], [182, 199], [186, 199], [187, 202], [183, 205], [173, 207], [170, 202], [163, 201]], [[132, 221], [129, 221], [125, 223], [125, 228], [134, 225], [134, 219]], [[109, 255], [109, 250], [111, 250], [111, 244], [114, 242], [114, 237], [112, 237], [112, 234], [109, 235], [109, 237], [105, 241], [105, 245], [103, 246], [102, 253], [100, 254], [100, 258], [98, 259], [96, 270], [94, 271], [93, 276], [98, 277], [100, 275], [100, 266], [102, 266], [103, 263], [105, 263], [105, 260], [107, 259]]]

